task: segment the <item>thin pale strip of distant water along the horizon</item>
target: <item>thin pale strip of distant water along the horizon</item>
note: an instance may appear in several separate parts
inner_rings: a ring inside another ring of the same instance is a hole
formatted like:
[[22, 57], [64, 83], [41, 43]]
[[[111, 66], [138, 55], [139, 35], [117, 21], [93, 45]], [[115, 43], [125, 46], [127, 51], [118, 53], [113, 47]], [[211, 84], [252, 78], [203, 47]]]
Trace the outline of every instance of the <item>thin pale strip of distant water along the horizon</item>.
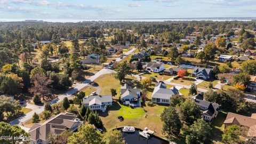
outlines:
[[[26, 19], [0, 19], [1, 22], [25, 21]], [[28, 20], [28, 19], [27, 19]], [[34, 19], [31, 19], [34, 20]], [[35, 19], [36, 20], [36, 19]], [[127, 18], [127, 19], [37, 19], [46, 22], [83, 22], [83, 21], [251, 21], [256, 17], [223, 18]]]

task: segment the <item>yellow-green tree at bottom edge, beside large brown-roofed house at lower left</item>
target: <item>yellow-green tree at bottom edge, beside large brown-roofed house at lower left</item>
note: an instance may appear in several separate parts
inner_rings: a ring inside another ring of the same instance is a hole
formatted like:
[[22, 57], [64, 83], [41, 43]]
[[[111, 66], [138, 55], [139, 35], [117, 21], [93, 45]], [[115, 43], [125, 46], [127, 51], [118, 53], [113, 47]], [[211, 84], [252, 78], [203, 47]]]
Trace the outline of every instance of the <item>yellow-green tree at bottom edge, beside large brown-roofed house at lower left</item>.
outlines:
[[68, 137], [68, 144], [100, 144], [102, 142], [102, 134], [96, 131], [90, 124], [84, 124], [78, 127], [78, 131]]

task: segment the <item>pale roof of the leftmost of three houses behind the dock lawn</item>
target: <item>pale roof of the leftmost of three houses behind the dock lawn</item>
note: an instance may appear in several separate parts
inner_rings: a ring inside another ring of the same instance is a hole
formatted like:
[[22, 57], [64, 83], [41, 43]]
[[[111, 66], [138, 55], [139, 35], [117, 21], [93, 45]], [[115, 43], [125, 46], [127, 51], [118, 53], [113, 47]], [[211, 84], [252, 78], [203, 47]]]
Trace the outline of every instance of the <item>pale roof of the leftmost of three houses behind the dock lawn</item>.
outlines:
[[112, 102], [112, 95], [88, 95], [83, 98], [83, 103], [89, 104], [89, 106], [98, 104], [101, 105], [103, 102]]

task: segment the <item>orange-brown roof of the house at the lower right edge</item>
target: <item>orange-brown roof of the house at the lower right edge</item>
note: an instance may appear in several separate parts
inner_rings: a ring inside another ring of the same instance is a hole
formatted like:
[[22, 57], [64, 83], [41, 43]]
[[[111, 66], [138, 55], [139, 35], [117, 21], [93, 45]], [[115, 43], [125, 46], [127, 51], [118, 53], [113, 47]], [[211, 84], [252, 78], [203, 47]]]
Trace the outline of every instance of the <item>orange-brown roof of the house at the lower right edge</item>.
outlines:
[[232, 124], [234, 121], [237, 121], [240, 125], [247, 127], [256, 125], [256, 119], [230, 112], [227, 114], [224, 124]]

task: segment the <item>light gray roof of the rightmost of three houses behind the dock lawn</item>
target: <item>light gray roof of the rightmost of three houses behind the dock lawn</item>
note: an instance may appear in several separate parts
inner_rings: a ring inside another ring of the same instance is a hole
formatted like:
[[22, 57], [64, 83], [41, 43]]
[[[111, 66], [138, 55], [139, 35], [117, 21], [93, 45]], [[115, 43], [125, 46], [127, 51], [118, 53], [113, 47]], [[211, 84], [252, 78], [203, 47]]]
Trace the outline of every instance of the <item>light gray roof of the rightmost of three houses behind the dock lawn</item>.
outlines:
[[174, 86], [171, 89], [166, 89], [163, 83], [155, 86], [155, 89], [151, 95], [151, 98], [170, 99], [172, 95], [179, 94], [179, 90]]

